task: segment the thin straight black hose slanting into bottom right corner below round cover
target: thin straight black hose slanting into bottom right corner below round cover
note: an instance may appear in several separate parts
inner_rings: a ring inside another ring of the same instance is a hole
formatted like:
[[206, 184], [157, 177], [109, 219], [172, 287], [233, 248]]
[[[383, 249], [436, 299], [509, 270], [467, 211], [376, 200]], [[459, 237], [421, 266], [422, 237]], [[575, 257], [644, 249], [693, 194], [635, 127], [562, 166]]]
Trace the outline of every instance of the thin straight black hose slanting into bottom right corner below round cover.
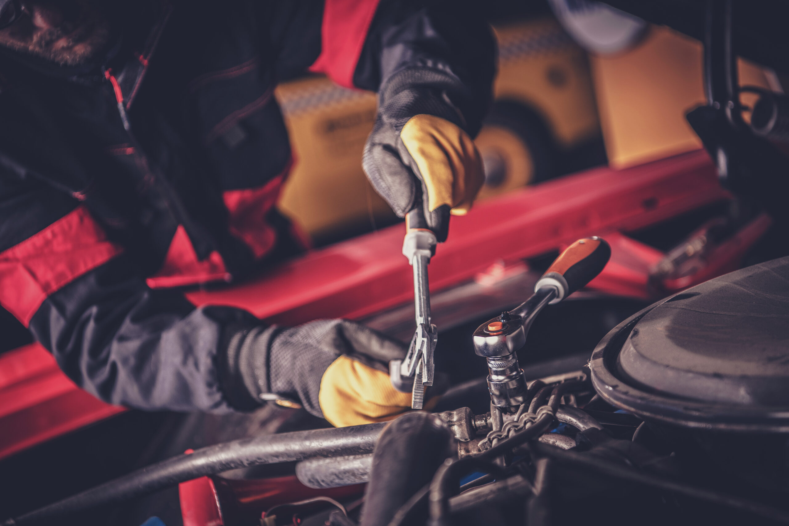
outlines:
[[744, 498], [735, 497], [734, 495], [720, 493], [719, 491], [707, 490], [705, 488], [691, 486], [690, 484], [680, 483], [675, 480], [664, 479], [656, 475], [637, 472], [633, 468], [627, 468], [620, 464], [613, 464], [608, 460], [602, 460], [594, 456], [559, 449], [552, 445], [541, 444], [540, 442], [529, 444], [529, 453], [537, 453], [537, 456], [548, 456], [559, 464], [574, 466], [575, 468], [585, 469], [590, 472], [597, 472], [615, 479], [628, 480], [659, 490], [673, 491], [700, 501], [727, 506], [732, 509], [739, 509], [740, 511], [753, 513], [754, 515], [764, 517], [768, 520], [776, 520], [783, 524], [789, 524], [789, 512], [783, 509], [777, 509], [772, 506], [761, 504], [761, 502], [749, 501]]

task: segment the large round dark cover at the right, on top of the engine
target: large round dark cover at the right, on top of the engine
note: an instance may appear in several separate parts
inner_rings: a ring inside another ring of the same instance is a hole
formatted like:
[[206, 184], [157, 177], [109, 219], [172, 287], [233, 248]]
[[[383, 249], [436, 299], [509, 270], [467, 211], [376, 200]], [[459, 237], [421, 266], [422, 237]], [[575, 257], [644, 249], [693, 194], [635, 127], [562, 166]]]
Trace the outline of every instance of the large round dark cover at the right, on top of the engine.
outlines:
[[789, 431], [789, 257], [658, 302], [598, 344], [600, 396], [645, 418]]

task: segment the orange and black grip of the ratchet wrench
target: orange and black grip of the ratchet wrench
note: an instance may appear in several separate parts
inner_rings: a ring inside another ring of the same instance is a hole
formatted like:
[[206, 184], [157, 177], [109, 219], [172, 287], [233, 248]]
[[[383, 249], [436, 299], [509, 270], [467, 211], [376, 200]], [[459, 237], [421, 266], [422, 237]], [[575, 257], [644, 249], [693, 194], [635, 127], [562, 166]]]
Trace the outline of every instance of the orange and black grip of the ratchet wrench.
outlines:
[[551, 303], [558, 303], [589, 284], [603, 271], [610, 258], [611, 246], [604, 239], [597, 236], [578, 239], [548, 267], [534, 285], [534, 291], [554, 287], [556, 296]]

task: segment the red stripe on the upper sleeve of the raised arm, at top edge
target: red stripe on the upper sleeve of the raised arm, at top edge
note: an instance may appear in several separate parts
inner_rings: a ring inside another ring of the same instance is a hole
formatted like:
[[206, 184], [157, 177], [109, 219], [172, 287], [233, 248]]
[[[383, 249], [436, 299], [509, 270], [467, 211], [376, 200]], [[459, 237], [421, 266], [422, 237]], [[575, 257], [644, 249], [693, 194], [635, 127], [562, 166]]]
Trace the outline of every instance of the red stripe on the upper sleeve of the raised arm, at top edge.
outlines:
[[310, 71], [326, 73], [338, 85], [353, 88], [367, 31], [379, 0], [326, 0], [320, 28], [320, 55]]

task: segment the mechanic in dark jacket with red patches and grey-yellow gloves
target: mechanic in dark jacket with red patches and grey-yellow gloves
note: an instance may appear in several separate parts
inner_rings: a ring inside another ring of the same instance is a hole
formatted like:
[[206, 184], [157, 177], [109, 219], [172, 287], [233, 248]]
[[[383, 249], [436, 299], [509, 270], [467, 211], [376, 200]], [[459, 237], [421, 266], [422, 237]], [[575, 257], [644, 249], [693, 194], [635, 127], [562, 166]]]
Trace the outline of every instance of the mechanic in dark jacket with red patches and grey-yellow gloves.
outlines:
[[0, 303], [111, 404], [393, 418], [402, 343], [195, 308], [177, 287], [304, 250], [275, 208], [292, 163], [279, 81], [378, 92], [365, 171], [443, 241], [483, 181], [470, 137], [494, 70], [488, 25], [456, 0], [0, 0]]

